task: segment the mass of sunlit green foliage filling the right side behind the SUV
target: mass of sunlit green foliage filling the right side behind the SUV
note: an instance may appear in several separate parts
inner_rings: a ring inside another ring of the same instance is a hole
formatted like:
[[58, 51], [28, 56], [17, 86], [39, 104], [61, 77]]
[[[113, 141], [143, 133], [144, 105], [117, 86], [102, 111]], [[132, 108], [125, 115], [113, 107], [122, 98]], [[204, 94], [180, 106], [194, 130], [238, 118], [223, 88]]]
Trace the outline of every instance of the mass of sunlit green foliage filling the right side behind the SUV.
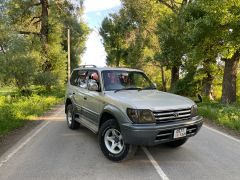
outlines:
[[[171, 70], [175, 93], [204, 93], [213, 99], [219, 98], [222, 89], [227, 99], [223, 102], [234, 102], [239, 8], [234, 0], [122, 0], [119, 13], [107, 17], [100, 31], [108, 65], [140, 69], [149, 63], [157, 65], [164, 69], [158, 82]], [[230, 61], [236, 63], [229, 65]]]

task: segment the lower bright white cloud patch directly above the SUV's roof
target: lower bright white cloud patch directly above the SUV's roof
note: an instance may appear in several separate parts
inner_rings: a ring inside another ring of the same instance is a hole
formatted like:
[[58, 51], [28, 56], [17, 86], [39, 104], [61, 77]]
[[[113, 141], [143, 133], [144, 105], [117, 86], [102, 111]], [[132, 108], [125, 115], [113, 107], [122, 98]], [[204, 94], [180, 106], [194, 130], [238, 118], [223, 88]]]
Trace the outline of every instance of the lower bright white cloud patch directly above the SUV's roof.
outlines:
[[106, 52], [101, 42], [101, 36], [96, 31], [91, 32], [89, 35], [86, 47], [86, 52], [82, 56], [82, 65], [106, 66]]

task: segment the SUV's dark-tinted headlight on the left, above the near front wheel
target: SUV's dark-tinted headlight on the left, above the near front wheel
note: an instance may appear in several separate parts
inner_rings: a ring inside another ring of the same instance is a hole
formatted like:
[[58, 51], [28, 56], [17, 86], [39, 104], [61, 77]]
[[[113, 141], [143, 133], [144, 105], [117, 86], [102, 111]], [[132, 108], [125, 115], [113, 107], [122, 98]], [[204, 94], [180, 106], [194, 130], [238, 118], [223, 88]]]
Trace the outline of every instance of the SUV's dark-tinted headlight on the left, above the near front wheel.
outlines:
[[130, 109], [127, 108], [127, 115], [135, 123], [155, 123], [152, 111], [147, 109]]

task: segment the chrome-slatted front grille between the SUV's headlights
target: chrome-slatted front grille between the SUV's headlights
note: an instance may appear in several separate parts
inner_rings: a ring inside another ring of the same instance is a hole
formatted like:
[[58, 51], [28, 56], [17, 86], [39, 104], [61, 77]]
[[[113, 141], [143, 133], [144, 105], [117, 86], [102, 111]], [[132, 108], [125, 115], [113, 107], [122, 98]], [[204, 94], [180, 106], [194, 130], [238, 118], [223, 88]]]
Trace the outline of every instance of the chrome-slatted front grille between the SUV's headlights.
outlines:
[[191, 109], [154, 111], [153, 114], [157, 123], [174, 122], [189, 119], [191, 117]]

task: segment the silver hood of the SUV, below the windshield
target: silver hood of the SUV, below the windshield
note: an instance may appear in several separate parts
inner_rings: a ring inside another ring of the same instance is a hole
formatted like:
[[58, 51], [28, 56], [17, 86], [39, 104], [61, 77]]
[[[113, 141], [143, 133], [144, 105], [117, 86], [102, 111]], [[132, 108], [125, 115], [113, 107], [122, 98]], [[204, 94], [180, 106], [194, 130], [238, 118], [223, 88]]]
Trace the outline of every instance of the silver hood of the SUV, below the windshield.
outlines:
[[119, 102], [119, 106], [126, 104], [130, 108], [152, 111], [191, 108], [195, 104], [188, 98], [158, 90], [123, 90], [116, 93], [108, 91], [105, 95], [114, 102]]

